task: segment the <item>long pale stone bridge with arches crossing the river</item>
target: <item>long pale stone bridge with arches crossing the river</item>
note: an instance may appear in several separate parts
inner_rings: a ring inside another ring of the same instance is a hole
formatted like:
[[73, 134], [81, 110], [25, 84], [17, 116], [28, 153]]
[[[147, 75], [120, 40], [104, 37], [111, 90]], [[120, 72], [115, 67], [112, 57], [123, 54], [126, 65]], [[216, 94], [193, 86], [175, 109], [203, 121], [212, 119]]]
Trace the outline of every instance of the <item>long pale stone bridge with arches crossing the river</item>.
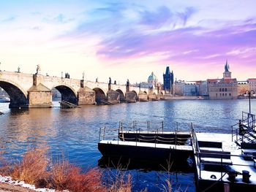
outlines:
[[122, 101], [148, 101], [163, 99], [159, 89], [138, 88], [39, 74], [0, 71], [0, 87], [10, 96], [10, 108], [52, 107], [52, 92], [56, 88], [61, 100], [76, 105], [116, 104]]

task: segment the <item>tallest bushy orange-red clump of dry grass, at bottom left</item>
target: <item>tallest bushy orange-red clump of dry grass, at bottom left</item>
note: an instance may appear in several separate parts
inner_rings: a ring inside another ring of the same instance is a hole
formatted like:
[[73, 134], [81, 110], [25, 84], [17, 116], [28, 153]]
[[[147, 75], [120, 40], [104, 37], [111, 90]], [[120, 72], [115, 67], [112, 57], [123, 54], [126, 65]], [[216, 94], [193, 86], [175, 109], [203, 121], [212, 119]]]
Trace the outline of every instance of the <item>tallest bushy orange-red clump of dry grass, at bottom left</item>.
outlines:
[[14, 180], [23, 180], [36, 186], [47, 183], [49, 177], [47, 150], [47, 147], [28, 150], [24, 153], [22, 161], [14, 164], [10, 176]]

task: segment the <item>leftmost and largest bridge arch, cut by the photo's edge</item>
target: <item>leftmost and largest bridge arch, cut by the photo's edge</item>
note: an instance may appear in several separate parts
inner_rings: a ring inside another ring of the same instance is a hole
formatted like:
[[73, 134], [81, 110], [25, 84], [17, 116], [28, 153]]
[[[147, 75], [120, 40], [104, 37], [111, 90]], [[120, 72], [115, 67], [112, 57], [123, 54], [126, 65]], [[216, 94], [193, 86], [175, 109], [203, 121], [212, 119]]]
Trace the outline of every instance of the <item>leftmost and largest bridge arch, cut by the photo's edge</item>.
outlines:
[[10, 80], [0, 80], [0, 87], [10, 96], [10, 108], [27, 107], [28, 93], [18, 84]]

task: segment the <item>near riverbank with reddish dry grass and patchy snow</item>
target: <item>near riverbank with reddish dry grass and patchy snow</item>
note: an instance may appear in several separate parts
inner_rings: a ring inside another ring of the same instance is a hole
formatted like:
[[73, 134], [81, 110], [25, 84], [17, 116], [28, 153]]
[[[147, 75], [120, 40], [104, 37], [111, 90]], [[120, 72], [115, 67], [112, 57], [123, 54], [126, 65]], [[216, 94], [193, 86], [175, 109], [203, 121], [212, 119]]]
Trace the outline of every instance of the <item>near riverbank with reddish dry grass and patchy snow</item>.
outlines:
[[[97, 167], [82, 172], [79, 166], [66, 160], [49, 161], [48, 147], [37, 147], [23, 154], [21, 161], [10, 163], [0, 157], [1, 188], [8, 191], [80, 191], [116, 192], [132, 191], [130, 174], [113, 174], [106, 177]], [[120, 172], [121, 173], [121, 172]], [[110, 174], [109, 174], [110, 175]], [[24, 189], [24, 190], [23, 190]], [[12, 190], [15, 191], [15, 190]]]

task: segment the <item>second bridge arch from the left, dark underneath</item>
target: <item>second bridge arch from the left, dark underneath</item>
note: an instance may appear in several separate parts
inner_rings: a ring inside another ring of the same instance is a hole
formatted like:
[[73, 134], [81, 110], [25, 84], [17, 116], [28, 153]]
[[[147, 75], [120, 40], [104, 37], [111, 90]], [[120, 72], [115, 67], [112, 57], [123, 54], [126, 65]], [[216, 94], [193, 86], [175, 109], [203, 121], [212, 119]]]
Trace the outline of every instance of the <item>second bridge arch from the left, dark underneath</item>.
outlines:
[[56, 85], [53, 86], [53, 88], [56, 88], [56, 90], [61, 93], [61, 101], [68, 101], [72, 104], [78, 104], [78, 96], [73, 88], [70, 88], [67, 85]]

